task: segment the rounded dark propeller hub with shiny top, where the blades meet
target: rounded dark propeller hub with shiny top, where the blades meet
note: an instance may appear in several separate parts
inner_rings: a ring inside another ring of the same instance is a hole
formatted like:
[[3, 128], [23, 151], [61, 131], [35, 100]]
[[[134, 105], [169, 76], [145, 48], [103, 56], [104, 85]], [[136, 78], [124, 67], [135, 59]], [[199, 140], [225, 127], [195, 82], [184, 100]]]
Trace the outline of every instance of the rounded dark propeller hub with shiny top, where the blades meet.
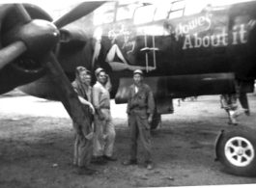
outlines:
[[56, 26], [43, 19], [34, 19], [23, 25], [18, 30], [17, 36], [33, 56], [42, 56], [53, 50], [60, 38]]

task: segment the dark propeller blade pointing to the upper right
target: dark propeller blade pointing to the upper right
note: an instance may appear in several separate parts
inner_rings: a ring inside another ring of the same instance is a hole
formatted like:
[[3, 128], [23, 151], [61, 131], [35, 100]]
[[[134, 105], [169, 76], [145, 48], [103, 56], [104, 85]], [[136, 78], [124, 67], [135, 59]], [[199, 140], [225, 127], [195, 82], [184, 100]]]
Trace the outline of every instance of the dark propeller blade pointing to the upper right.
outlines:
[[71, 10], [70, 13], [66, 13], [58, 20], [54, 21], [54, 24], [58, 29], [68, 25], [69, 23], [79, 19], [88, 13], [92, 13], [94, 10], [99, 8], [105, 1], [94, 1], [94, 2], [84, 2], [79, 4], [77, 7]]

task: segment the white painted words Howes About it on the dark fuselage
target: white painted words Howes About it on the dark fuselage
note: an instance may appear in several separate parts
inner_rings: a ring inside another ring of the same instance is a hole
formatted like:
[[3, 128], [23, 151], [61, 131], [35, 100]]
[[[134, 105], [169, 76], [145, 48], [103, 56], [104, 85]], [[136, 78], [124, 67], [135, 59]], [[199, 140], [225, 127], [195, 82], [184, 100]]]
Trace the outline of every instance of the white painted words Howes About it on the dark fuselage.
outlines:
[[[218, 18], [218, 17], [217, 17]], [[175, 39], [183, 39], [183, 49], [199, 47], [218, 47], [228, 44], [236, 45], [247, 42], [248, 33], [255, 25], [255, 20], [248, 23], [240, 23], [228, 30], [228, 22], [215, 20], [212, 13], [206, 13], [203, 16], [192, 19], [186, 23], [177, 24], [173, 35]], [[215, 24], [213, 24], [213, 20]]]

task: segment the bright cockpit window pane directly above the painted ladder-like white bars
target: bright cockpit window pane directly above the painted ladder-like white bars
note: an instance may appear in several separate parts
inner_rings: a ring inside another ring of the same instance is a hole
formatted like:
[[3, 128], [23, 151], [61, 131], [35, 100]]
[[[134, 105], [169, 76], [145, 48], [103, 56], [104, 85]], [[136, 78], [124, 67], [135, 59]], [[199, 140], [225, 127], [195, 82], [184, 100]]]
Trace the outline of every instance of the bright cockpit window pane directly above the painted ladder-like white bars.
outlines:
[[[149, 13], [146, 13], [147, 16], [145, 16], [145, 11], [147, 11], [147, 10], [149, 10], [151, 12], [151, 16], [149, 16]], [[141, 14], [137, 15], [137, 13], [139, 13], [139, 12], [141, 12]], [[154, 20], [155, 13], [156, 13], [155, 5], [147, 5], [147, 6], [138, 7], [134, 12], [133, 24], [138, 25], [138, 24], [144, 24], [144, 23], [151, 22]], [[139, 19], [137, 17], [139, 17]]]

